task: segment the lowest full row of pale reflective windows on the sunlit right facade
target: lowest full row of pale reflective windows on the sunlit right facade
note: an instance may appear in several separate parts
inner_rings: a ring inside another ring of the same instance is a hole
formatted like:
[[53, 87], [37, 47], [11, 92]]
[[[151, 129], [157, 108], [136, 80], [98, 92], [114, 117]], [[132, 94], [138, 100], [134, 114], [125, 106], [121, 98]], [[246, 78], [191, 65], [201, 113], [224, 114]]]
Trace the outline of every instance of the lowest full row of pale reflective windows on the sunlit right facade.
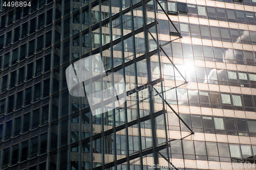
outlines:
[[[183, 151], [183, 152], [182, 152]], [[193, 140], [170, 142], [172, 158], [255, 163], [256, 146]], [[182, 155], [183, 154], [183, 155]]]

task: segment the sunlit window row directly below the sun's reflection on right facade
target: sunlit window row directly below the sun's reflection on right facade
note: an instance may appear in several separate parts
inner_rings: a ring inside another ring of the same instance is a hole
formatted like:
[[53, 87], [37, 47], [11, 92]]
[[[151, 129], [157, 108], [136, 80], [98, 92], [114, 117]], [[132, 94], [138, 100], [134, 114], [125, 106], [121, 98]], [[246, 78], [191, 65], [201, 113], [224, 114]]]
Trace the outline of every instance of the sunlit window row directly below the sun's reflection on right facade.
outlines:
[[[177, 98], [176, 98], [177, 91]], [[255, 111], [256, 96], [246, 94], [229, 94], [202, 90], [180, 89], [166, 90], [166, 100], [170, 104], [211, 107], [219, 109]], [[160, 102], [160, 100], [158, 101]]]

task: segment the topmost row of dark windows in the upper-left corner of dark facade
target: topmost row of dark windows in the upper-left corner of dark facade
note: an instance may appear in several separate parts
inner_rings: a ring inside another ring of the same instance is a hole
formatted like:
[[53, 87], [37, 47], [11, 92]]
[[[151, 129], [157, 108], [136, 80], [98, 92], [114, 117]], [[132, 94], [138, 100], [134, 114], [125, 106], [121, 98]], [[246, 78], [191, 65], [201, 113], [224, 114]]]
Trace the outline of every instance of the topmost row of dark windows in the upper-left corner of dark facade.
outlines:
[[[30, 2], [31, 7], [17, 7], [11, 11], [8, 11], [5, 15], [2, 15], [0, 30], [4, 29], [5, 27], [9, 27], [10, 25], [12, 25], [12, 23], [17, 22], [21, 18], [25, 18], [33, 12], [37, 11], [38, 9], [44, 7], [46, 1], [48, 5], [53, 2], [53, 0], [32, 0], [27, 1], [27, 4]], [[0, 7], [1, 5], [3, 5], [3, 3], [0, 4]], [[4, 11], [5, 9], [7, 9], [7, 6], [2, 7], [2, 11]]]

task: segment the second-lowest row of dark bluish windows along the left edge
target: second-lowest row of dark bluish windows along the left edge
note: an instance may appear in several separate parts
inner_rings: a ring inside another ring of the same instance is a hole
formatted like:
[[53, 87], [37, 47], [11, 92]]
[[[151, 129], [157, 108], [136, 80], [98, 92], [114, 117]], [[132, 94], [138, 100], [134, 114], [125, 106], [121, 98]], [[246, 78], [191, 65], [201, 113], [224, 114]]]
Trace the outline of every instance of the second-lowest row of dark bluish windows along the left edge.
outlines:
[[47, 124], [48, 110], [45, 105], [0, 124], [0, 142]]

